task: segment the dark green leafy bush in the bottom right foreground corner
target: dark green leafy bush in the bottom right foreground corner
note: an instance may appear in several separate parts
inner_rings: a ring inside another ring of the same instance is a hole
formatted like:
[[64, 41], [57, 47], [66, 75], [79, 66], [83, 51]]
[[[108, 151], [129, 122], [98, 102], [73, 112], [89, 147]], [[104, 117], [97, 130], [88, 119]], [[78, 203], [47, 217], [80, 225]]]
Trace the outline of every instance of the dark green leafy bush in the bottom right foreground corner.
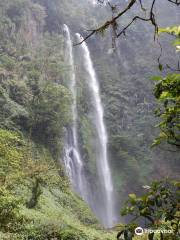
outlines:
[[[158, 236], [160, 239], [179, 239], [179, 187], [176, 181], [154, 181], [150, 186], [144, 186], [147, 193], [143, 196], [129, 194], [122, 215], [130, 214], [132, 220], [119, 232], [117, 238], [124, 236], [126, 240], [132, 239], [138, 223], [141, 223], [144, 229], [154, 230], [148, 234], [149, 240], [157, 239]], [[159, 233], [155, 233], [157, 230]]]

